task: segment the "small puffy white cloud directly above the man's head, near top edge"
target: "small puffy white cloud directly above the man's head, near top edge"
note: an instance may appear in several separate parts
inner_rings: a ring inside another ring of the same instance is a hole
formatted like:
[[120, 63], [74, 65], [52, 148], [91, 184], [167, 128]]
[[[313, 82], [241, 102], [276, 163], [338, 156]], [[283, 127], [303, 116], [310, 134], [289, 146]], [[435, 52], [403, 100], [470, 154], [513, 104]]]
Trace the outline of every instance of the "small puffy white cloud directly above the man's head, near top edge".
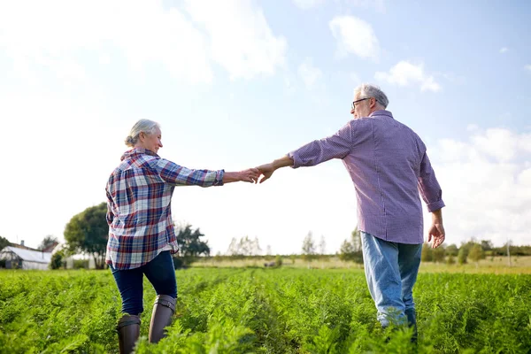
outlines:
[[328, 26], [337, 41], [340, 57], [353, 53], [359, 58], [378, 58], [380, 52], [378, 38], [374, 34], [373, 27], [363, 19], [354, 16], [337, 16]]

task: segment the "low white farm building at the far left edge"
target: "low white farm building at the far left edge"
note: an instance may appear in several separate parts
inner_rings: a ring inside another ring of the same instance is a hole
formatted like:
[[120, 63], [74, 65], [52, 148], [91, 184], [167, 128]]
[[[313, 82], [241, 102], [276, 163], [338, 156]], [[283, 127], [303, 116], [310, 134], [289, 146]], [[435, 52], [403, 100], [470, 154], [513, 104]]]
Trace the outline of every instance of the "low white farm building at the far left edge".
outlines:
[[4, 247], [0, 259], [5, 260], [7, 269], [48, 269], [51, 261], [50, 251], [27, 250], [14, 246]]

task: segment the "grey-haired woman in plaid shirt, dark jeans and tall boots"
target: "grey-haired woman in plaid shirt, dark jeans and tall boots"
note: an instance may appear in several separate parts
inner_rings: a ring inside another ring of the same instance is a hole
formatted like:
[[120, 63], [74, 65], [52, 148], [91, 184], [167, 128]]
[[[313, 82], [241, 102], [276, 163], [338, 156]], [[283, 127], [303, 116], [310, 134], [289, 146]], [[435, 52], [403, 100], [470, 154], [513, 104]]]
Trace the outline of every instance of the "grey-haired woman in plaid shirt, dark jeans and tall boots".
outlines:
[[107, 182], [106, 263], [122, 299], [117, 326], [120, 353], [129, 353], [140, 335], [142, 279], [145, 274], [157, 292], [150, 322], [150, 342], [165, 335], [175, 311], [177, 282], [171, 253], [178, 250], [173, 230], [171, 199], [179, 185], [222, 186], [235, 181], [256, 182], [259, 171], [190, 170], [160, 158], [161, 132], [157, 122], [141, 119], [127, 136], [132, 147]]

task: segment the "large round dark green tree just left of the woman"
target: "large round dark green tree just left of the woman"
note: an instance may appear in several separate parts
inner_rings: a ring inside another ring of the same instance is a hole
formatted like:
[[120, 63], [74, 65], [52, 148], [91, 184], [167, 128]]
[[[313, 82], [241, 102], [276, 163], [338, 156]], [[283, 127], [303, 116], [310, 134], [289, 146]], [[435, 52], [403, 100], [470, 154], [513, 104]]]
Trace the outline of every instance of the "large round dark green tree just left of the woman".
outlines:
[[105, 266], [105, 251], [109, 237], [106, 213], [106, 203], [91, 206], [74, 215], [65, 227], [68, 249], [94, 258], [96, 269], [103, 269]]

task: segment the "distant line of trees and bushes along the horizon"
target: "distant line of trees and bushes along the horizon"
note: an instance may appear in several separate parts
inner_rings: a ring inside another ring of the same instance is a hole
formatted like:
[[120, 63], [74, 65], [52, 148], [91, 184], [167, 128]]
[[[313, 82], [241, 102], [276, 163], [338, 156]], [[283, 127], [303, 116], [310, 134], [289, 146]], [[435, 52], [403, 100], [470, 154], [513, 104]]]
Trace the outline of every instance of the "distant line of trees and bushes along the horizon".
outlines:
[[[83, 254], [92, 258], [96, 269], [103, 269], [105, 266], [105, 250], [109, 233], [105, 214], [107, 205], [105, 203], [91, 206], [73, 216], [65, 226], [65, 244], [60, 250], [56, 250], [52, 255], [50, 267], [53, 269], [65, 267], [65, 259], [74, 254]], [[204, 234], [199, 228], [193, 229], [191, 225], [175, 226], [177, 242], [179, 243], [179, 253], [173, 256], [175, 267], [189, 266], [198, 257], [211, 256], [211, 249], [208, 241], [203, 241]], [[44, 237], [39, 250], [46, 249], [54, 242], [58, 242], [57, 237], [48, 235]], [[0, 250], [9, 245], [10, 242], [0, 236]], [[265, 252], [265, 254], [264, 254]], [[335, 254], [327, 253], [327, 243], [324, 235], [320, 236], [319, 243], [314, 239], [312, 232], [304, 237], [300, 255], [291, 255], [292, 262], [296, 257], [301, 257], [310, 264], [316, 258], [326, 258], [337, 256], [344, 262], [354, 262], [363, 264], [362, 244], [358, 227], [345, 239], [340, 250]], [[423, 262], [466, 264], [472, 261], [477, 264], [481, 259], [496, 256], [531, 256], [531, 246], [513, 246], [510, 242], [502, 247], [494, 247], [492, 242], [481, 240], [476, 242], [471, 240], [464, 242], [458, 247], [456, 244], [446, 245], [437, 249], [431, 249], [427, 244], [422, 248], [421, 260]], [[225, 255], [218, 253], [216, 258], [242, 259], [250, 257], [275, 258], [276, 264], [281, 264], [281, 256], [273, 255], [271, 245], [263, 250], [259, 244], [258, 237], [241, 238], [233, 237], [228, 245]]]

